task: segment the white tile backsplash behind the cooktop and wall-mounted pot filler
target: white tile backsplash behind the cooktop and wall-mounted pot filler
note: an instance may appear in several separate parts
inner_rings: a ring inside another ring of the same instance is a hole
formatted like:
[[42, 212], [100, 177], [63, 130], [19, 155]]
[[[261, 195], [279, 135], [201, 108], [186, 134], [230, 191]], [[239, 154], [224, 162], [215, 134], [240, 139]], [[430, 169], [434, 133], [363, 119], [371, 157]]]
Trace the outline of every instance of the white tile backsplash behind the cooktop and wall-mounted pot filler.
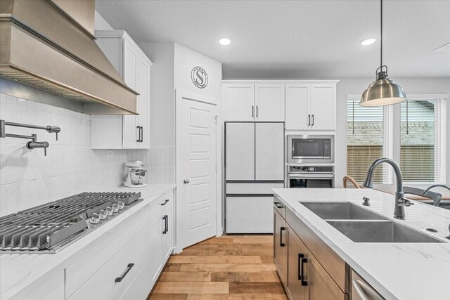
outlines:
[[0, 139], [0, 216], [122, 183], [127, 151], [114, 150], [108, 158], [105, 150], [91, 150], [91, 116], [0, 94], [0, 118], [61, 128], [56, 141], [54, 133], [6, 127], [8, 133], [37, 133], [38, 141], [48, 141], [50, 147], [44, 156], [43, 149], [28, 150], [28, 140]]

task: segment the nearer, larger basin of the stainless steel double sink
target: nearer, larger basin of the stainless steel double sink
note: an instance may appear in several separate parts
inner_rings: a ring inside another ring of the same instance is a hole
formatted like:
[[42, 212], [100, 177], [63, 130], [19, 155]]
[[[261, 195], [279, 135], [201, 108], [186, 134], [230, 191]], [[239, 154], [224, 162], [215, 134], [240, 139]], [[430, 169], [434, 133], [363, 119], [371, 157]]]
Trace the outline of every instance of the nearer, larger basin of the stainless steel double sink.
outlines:
[[327, 221], [353, 242], [442, 242], [393, 221]]

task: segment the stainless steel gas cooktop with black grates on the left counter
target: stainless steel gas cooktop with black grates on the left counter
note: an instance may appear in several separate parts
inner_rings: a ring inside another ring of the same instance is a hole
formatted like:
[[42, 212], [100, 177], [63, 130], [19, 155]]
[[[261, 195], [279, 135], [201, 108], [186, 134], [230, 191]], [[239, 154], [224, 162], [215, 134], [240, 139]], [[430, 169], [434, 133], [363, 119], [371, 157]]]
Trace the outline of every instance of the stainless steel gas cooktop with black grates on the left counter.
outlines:
[[0, 218], [0, 253], [55, 253], [110, 221], [141, 193], [80, 193]]

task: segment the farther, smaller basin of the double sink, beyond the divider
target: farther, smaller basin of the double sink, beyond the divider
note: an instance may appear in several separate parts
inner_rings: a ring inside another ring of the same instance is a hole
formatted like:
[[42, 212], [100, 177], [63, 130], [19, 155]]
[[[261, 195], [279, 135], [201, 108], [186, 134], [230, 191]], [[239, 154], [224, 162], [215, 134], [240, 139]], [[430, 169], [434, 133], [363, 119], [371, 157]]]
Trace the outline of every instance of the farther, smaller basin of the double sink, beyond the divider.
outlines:
[[[299, 201], [300, 202], [300, 201]], [[351, 202], [300, 202], [324, 220], [388, 220]]]

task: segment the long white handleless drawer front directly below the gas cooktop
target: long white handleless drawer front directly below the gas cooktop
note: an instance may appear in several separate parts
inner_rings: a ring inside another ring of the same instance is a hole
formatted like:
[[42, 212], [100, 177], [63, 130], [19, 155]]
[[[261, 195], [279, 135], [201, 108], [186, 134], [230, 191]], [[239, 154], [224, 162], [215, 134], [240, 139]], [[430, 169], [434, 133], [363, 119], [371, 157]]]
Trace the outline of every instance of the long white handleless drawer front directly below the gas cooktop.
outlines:
[[150, 209], [146, 205], [72, 256], [66, 268], [66, 294], [73, 294], [149, 222]]

